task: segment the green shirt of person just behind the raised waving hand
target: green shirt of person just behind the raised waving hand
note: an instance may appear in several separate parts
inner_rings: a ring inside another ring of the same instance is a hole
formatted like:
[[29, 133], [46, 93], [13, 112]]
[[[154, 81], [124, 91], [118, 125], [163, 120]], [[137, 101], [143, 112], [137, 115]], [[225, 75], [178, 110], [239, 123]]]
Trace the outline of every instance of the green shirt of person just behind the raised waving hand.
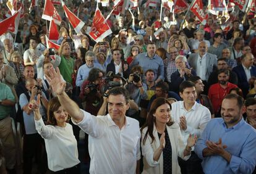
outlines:
[[59, 64], [59, 72], [61, 72], [64, 80], [72, 84], [72, 73], [74, 73], [75, 60], [70, 57], [66, 59], [64, 56], [61, 56], [61, 63]]

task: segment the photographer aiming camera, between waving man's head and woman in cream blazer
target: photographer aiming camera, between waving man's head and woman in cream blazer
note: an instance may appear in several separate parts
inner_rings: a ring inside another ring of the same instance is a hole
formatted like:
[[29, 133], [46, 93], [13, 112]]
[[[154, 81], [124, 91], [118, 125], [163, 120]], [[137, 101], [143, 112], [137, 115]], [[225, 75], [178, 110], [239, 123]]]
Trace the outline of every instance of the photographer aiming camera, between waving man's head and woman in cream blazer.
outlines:
[[[147, 86], [145, 84], [142, 85], [143, 69], [139, 65], [135, 65], [130, 72], [129, 79], [124, 88], [129, 91], [130, 99], [134, 100], [139, 106], [140, 99], [147, 99], [147, 91], [145, 91]], [[129, 109], [127, 111], [127, 116], [137, 119], [140, 122], [140, 125], [142, 124], [142, 120], [140, 119], [137, 110]]]

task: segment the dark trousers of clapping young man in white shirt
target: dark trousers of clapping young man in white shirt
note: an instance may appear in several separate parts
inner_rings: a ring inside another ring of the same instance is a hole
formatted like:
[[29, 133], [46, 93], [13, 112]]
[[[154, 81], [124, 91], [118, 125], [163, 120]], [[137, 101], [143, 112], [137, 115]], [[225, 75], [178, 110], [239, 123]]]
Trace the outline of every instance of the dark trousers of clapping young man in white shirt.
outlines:
[[195, 152], [191, 152], [191, 156], [188, 160], [182, 160], [178, 158], [179, 166], [181, 167], [182, 174], [203, 174], [203, 168], [201, 165], [202, 160], [198, 158]]

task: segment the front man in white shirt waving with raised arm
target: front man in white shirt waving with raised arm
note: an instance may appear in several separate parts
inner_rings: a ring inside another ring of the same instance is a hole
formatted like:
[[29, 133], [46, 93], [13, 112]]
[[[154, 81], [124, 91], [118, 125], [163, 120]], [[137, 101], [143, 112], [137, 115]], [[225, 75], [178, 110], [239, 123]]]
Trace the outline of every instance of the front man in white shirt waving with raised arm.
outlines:
[[108, 93], [108, 115], [95, 117], [72, 101], [65, 93], [66, 83], [59, 69], [52, 68], [48, 77], [61, 106], [72, 121], [89, 135], [90, 173], [139, 173], [139, 122], [126, 117], [129, 94], [124, 88], [113, 88]]

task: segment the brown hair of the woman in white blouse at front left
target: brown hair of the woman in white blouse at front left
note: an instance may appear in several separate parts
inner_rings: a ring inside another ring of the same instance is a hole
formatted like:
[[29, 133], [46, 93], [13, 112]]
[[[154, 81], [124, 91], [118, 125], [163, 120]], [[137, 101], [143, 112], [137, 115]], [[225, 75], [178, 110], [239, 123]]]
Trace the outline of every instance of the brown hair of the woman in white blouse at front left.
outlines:
[[[57, 111], [61, 107], [61, 103], [59, 102], [58, 97], [53, 97], [48, 103], [47, 109], [47, 124], [48, 125], [57, 125], [56, 119], [54, 118], [54, 112]], [[67, 121], [69, 122], [69, 118], [67, 117]]]

